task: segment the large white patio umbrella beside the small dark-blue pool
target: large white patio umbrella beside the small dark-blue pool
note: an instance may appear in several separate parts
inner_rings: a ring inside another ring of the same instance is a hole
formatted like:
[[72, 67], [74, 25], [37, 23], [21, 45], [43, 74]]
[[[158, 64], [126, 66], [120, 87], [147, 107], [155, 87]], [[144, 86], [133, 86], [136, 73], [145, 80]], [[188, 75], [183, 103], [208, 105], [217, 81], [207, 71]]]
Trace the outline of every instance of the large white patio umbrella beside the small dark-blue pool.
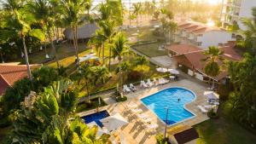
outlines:
[[117, 130], [125, 124], [128, 124], [127, 120], [125, 120], [125, 118], [122, 117], [119, 113], [116, 113], [113, 116], [109, 116], [107, 118], [103, 118], [100, 121], [108, 131]]

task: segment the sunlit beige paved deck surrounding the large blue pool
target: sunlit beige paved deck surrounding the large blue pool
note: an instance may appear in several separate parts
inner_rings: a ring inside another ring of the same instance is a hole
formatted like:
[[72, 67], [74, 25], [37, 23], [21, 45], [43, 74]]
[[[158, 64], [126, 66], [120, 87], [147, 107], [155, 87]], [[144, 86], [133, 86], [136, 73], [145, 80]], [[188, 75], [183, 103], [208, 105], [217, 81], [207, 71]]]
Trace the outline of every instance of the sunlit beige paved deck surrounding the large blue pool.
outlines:
[[[165, 130], [165, 124], [158, 118], [154, 112], [149, 110], [147, 107], [145, 107], [140, 101], [143, 97], [146, 97], [148, 95], [152, 95], [162, 89], [167, 89], [170, 87], [182, 87], [185, 89], [189, 89], [193, 91], [196, 95], [195, 101], [192, 101], [191, 103], [187, 104], [185, 107], [195, 114], [195, 117], [189, 118], [185, 121], [182, 121], [178, 124], [173, 124], [171, 126], [168, 126], [167, 129], [172, 129], [176, 125], [189, 125], [193, 126], [195, 124], [200, 124], [201, 122], [208, 119], [206, 113], [202, 113], [198, 105], [204, 105], [207, 104], [207, 97], [203, 95], [204, 91], [207, 90], [207, 85], [202, 84], [198, 81], [194, 81], [191, 79], [182, 79], [179, 81], [174, 81], [169, 84], [165, 85], [159, 85], [148, 89], [139, 89], [137, 92], [127, 94], [128, 101], [125, 102], [119, 102], [115, 103], [113, 101], [108, 101], [108, 106], [101, 107], [101, 110], [108, 110], [109, 114], [113, 114], [116, 112], [119, 112], [124, 118], [126, 118], [129, 121], [129, 124], [122, 127], [120, 130], [116, 131], [118, 135], [125, 135], [125, 141], [127, 143], [131, 144], [154, 144], [156, 143], [155, 140], [155, 134], [149, 134], [147, 132], [147, 129], [144, 128], [141, 124], [138, 123], [137, 118], [132, 117], [132, 115], [125, 110], [127, 108], [126, 104], [130, 103], [131, 101], [134, 103], [137, 103], [138, 107], [143, 109], [143, 113], [148, 114], [150, 118], [153, 119], [153, 122], [159, 125], [159, 128], [157, 129], [156, 133], [163, 133]], [[84, 116], [90, 113], [95, 112], [95, 110], [87, 111], [87, 112], [81, 112], [79, 113], [80, 116]]]

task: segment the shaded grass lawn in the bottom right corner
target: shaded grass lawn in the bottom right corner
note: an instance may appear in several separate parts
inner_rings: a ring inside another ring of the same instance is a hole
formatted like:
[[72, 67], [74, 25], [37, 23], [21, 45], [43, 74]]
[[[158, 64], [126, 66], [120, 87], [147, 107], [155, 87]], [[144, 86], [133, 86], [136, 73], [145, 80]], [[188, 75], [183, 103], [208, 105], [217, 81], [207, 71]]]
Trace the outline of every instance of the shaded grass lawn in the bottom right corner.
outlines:
[[218, 119], [195, 125], [195, 129], [200, 135], [197, 144], [255, 144], [256, 141], [256, 135], [245, 130], [224, 112], [220, 112]]

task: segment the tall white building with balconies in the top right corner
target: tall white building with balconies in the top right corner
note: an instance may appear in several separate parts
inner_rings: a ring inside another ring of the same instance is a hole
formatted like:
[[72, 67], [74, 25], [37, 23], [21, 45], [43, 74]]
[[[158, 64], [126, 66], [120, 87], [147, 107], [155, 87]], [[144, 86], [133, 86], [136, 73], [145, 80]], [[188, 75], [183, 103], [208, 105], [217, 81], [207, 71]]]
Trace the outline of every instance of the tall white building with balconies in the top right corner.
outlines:
[[237, 23], [242, 30], [245, 30], [241, 18], [252, 18], [253, 7], [256, 7], [256, 0], [224, 0], [221, 12], [223, 27]]

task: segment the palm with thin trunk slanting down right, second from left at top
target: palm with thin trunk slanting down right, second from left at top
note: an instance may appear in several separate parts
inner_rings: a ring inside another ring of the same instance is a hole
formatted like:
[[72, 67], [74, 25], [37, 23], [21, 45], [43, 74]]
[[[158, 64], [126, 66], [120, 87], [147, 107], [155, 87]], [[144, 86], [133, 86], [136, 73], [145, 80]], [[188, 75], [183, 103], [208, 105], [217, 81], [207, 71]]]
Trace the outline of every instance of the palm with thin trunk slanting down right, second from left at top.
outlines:
[[[54, 55], [56, 58], [57, 67], [60, 68], [59, 63], [59, 56], [56, 53], [55, 44], [53, 43], [52, 39], [52, 32], [50, 31], [52, 29], [51, 21], [54, 19], [52, 18], [52, 12], [51, 12], [51, 6], [50, 3], [47, 0], [34, 0], [32, 3], [29, 4], [29, 9], [32, 14], [34, 14], [35, 18], [39, 21], [39, 24], [42, 26], [42, 29], [44, 29], [44, 35], [45, 37], [49, 37], [49, 41], [51, 43], [51, 47], [54, 51]], [[46, 43], [46, 38], [44, 39], [44, 43]]]

